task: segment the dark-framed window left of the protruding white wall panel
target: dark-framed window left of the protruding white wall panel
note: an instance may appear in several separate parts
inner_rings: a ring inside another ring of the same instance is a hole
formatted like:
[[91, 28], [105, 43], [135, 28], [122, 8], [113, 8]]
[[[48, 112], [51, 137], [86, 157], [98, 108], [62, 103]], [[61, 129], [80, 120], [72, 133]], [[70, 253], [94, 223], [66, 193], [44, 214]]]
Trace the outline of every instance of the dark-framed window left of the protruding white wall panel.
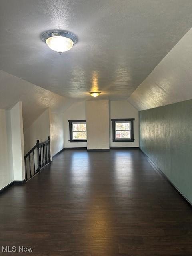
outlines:
[[86, 120], [68, 120], [70, 142], [87, 142]]

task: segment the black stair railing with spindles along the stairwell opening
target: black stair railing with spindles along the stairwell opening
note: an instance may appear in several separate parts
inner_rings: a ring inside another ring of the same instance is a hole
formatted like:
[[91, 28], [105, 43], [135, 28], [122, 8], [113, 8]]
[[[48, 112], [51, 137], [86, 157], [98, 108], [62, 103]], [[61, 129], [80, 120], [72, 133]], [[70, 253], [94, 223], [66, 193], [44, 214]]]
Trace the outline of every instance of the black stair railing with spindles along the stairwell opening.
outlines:
[[[40, 170], [51, 163], [50, 136], [48, 140], [39, 142], [25, 155], [26, 181], [32, 178]], [[29, 177], [29, 178], [28, 178]]]

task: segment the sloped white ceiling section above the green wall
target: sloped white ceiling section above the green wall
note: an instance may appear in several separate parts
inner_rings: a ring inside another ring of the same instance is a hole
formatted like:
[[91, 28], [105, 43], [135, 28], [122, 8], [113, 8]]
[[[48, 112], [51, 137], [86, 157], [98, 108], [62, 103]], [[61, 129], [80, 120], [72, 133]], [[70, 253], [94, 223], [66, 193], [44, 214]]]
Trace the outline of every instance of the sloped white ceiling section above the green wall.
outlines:
[[138, 110], [192, 99], [192, 29], [174, 46], [128, 101]]

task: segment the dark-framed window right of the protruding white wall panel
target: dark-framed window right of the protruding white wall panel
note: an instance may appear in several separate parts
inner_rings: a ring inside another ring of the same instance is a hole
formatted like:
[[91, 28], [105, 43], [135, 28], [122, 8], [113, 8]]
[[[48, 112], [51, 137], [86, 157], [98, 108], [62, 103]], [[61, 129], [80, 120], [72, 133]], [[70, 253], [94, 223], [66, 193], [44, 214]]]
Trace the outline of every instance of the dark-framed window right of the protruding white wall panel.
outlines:
[[135, 119], [111, 119], [113, 126], [113, 141], [134, 141], [134, 120]]

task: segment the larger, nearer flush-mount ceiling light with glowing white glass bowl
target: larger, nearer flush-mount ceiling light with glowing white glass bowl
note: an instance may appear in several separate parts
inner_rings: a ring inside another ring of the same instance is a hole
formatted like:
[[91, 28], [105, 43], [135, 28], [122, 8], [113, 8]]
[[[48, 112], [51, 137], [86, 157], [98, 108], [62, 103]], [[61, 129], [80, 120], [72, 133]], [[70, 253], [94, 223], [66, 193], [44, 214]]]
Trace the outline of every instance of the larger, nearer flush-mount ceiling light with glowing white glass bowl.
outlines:
[[62, 30], [45, 32], [42, 34], [41, 38], [49, 48], [58, 52], [59, 54], [70, 50], [77, 42], [76, 36]]

